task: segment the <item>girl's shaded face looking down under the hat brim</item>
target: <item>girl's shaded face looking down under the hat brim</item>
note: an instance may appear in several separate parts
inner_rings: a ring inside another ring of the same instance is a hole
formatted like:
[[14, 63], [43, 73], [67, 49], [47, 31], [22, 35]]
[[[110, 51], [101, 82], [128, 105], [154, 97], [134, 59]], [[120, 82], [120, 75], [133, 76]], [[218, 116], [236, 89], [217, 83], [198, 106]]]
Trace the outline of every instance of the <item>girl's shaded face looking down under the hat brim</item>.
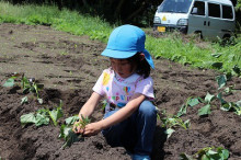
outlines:
[[131, 76], [136, 70], [136, 64], [128, 61], [127, 59], [114, 59], [110, 58], [113, 70], [122, 78]]

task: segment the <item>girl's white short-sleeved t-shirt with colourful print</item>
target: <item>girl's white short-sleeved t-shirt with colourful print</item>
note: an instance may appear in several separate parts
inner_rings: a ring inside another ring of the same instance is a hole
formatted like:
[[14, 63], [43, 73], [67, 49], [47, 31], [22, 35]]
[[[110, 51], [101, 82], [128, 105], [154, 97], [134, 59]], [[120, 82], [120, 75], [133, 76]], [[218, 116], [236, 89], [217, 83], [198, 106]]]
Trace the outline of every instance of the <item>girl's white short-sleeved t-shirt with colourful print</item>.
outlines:
[[106, 98], [108, 105], [105, 106], [105, 111], [110, 111], [110, 104], [118, 107], [125, 106], [135, 93], [141, 93], [150, 101], [154, 99], [151, 77], [144, 79], [142, 76], [133, 73], [124, 79], [111, 68], [102, 72], [93, 91]]

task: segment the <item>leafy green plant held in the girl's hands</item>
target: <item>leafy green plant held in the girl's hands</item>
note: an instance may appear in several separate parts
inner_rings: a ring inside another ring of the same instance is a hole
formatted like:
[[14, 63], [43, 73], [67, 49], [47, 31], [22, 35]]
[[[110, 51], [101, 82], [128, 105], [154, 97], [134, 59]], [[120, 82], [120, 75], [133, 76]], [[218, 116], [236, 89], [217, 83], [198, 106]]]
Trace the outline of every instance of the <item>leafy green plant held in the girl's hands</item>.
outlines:
[[84, 129], [85, 125], [90, 124], [90, 118], [84, 117], [81, 115], [81, 119], [78, 116], [71, 116], [66, 118], [66, 125], [61, 125], [59, 138], [64, 138], [65, 142], [61, 146], [61, 149], [65, 149], [66, 147], [70, 147], [73, 142], [80, 141], [83, 139], [82, 134], [76, 134], [72, 128], [73, 125], [74, 128], [80, 127]]

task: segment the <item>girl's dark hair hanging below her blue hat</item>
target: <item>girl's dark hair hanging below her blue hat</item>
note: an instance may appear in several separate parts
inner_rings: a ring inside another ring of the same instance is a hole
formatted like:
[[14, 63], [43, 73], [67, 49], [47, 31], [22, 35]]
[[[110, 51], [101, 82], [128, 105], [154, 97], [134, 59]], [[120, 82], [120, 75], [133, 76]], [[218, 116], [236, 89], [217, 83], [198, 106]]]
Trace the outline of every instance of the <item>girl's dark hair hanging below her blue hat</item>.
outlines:
[[150, 65], [147, 62], [146, 58], [141, 59], [140, 54], [141, 53], [137, 53], [127, 60], [137, 65], [136, 73], [144, 76], [144, 78], [147, 78], [150, 75]]

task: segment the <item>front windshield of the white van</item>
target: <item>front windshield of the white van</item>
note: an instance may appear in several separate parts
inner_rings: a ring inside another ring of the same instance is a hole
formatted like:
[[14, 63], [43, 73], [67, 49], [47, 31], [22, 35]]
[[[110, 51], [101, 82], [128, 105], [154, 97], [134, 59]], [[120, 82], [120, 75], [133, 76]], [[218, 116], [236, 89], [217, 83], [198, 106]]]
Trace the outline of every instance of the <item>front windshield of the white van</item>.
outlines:
[[158, 12], [187, 13], [193, 0], [164, 0]]

